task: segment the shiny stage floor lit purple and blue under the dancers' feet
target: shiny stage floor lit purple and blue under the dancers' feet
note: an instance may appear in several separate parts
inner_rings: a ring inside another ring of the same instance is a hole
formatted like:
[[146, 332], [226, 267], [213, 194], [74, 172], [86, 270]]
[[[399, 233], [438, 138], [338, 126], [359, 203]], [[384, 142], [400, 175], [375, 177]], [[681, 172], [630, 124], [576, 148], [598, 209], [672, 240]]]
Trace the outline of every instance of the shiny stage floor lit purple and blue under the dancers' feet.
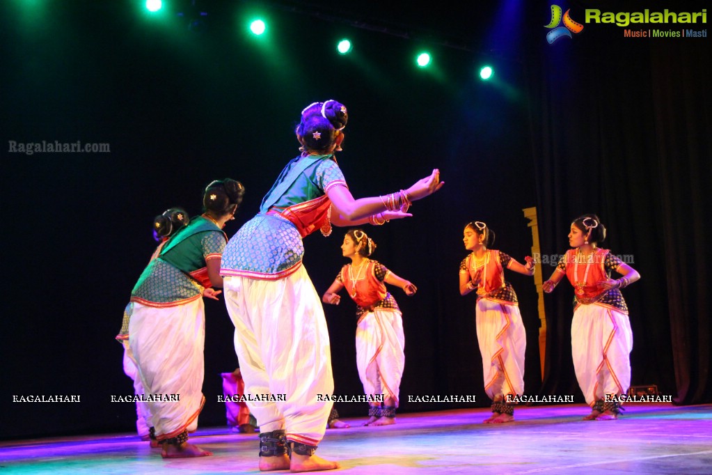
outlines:
[[[627, 404], [617, 421], [582, 421], [587, 412], [518, 407], [500, 425], [481, 424], [486, 409], [402, 414], [386, 427], [343, 419], [352, 427], [329, 429], [318, 454], [350, 474], [712, 474], [712, 404]], [[0, 442], [0, 472], [260, 473], [256, 434], [201, 428], [191, 441], [214, 455], [164, 460], [133, 434]]]

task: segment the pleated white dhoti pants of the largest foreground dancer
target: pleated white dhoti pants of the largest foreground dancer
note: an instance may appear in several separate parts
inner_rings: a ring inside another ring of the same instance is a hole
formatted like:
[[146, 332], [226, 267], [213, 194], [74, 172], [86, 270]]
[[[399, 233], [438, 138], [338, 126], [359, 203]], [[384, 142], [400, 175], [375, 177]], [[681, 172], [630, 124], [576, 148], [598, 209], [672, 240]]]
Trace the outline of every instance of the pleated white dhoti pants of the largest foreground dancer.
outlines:
[[304, 266], [278, 281], [227, 276], [224, 291], [245, 394], [286, 395], [247, 401], [260, 432], [318, 445], [333, 406], [319, 396], [332, 395], [334, 380], [324, 310]]

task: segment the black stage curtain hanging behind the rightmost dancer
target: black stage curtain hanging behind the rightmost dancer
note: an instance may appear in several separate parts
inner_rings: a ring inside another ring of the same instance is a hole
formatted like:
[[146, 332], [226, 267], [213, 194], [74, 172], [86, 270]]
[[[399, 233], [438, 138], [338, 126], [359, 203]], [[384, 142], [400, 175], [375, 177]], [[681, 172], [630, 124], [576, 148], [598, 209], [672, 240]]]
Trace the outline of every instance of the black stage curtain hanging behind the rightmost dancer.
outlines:
[[[706, 38], [588, 29], [530, 51], [542, 252], [562, 254], [572, 219], [597, 213], [609, 231], [603, 247], [628, 256], [642, 274], [623, 291], [634, 334], [632, 385], [656, 384], [681, 404], [709, 402], [703, 242], [712, 103], [711, 66], [703, 58], [710, 46]], [[544, 278], [554, 263], [544, 266]], [[545, 393], [580, 395], [570, 377], [572, 295], [564, 281], [545, 300]]]

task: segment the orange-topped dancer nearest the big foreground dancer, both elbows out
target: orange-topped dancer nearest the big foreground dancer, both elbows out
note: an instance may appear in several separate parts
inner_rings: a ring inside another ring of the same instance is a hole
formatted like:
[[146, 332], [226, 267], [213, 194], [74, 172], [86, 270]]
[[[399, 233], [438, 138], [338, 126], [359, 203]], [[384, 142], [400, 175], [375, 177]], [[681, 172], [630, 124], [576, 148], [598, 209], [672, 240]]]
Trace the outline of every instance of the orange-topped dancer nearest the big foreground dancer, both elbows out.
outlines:
[[[376, 243], [361, 229], [350, 229], [344, 236], [341, 251], [351, 259], [322, 297], [325, 303], [338, 305], [337, 294], [346, 288], [357, 303], [356, 363], [366, 395], [383, 395], [383, 406], [370, 403], [370, 418], [365, 426], [396, 423], [396, 409], [403, 368], [405, 337], [400, 309], [385, 283], [398, 286], [407, 296], [417, 291], [409, 281], [389, 271], [382, 263], [368, 259]], [[356, 270], [354, 270], [356, 269]]]

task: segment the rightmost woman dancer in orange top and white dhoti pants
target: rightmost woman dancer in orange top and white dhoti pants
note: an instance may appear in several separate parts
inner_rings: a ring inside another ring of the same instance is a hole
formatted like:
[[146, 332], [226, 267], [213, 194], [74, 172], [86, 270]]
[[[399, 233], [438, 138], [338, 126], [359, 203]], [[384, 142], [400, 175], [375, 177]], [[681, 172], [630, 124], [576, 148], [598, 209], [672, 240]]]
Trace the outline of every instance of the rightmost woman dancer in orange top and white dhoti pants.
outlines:
[[[574, 286], [574, 370], [592, 408], [584, 419], [617, 419], [621, 410], [619, 397], [630, 386], [633, 349], [628, 307], [620, 289], [637, 281], [640, 274], [608, 249], [598, 247], [606, 239], [606, 228], [595, 214], [575, 219], [568, 237], [573, 249], [559, 260], [543, 290], [550, 293], [564, 277]], [[612, 279], [612, 271], [622, 277]]]

